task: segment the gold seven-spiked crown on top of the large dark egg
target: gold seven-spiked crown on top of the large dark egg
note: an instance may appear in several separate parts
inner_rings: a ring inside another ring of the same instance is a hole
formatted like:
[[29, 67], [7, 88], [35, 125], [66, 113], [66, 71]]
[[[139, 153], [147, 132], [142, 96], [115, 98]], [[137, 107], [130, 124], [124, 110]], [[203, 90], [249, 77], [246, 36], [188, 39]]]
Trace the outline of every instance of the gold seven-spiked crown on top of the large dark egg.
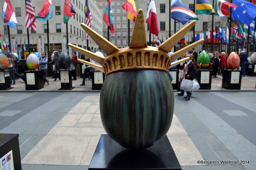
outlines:
[[118, 49], [118, 47], [110, 43], [84, 23], [81, 23], [82, 28], [106, 53], [107, 57], [101, 57], [76, 45], [68, 44], [68, 46], [101, 65], [93, 64], [81, 59], [78, 59], [79, 62], [92, 66], [93, 68], [104, 72], [106, 75], [112, 72], [130, 69], [156, 69], [167, 72], [171, 66], [182, 63], [188, 60], [188, 58], [174, 63], [172, 63], [172, 61], [204, 41], [204, 39], [200, 39], [199, 41], [176, 51], [172, 55], [168, 55], [168, 52], [172, 47], [182, 39], [195, 23], [196, 21], [190, 22], [158, 47], [147, 46], [144, 17], [143, 12], [140, 9], [136, 17], [129, 47]]

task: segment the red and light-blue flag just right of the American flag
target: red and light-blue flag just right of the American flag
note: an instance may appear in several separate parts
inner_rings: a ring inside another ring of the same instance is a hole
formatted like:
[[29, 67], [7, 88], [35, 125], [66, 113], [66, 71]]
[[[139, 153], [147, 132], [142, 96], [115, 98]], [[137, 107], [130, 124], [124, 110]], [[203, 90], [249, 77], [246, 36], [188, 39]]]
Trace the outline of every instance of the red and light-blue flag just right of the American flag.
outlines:
[[42, 8], [36, 15], [39, 21], [47, 21], [52, 18], [52, 0], [45, 0]]

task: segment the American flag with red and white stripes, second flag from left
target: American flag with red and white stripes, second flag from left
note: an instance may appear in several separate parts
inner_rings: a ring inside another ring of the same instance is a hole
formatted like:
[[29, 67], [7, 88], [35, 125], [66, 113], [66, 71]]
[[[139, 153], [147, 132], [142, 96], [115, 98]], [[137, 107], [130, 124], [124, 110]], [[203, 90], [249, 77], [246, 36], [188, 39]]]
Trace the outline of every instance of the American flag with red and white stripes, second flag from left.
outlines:
[[36, 14], [30, 0], [26, 0], [26, 21], [25, 25], [27, 28], [31, 28], [36, 32]]

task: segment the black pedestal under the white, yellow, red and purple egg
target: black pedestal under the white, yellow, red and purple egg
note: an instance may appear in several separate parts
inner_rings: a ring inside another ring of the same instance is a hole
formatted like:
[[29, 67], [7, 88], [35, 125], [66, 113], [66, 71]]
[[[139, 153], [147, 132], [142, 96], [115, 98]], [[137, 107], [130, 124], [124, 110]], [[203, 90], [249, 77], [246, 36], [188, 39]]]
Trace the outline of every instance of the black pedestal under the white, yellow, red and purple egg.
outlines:
[[44, 88], [43, 70], [25, 71], [26, 90]]

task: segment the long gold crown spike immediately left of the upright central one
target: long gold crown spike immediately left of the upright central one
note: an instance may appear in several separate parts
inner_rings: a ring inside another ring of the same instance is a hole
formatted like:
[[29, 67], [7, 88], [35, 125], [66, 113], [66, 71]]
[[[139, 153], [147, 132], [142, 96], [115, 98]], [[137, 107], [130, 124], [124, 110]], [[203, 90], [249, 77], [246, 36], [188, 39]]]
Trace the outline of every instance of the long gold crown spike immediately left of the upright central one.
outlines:
[[108, 40], [106, 40], [104, 37], [102, 37], [100, 34], [98, 34], [96, 31], [85, 25], [84, 23], [81, 23], [82, 28], [86, 33], [90, 35], [90, 37], [95, 41], [96, 44], [107, 54], [111, 54], [115, 51], [118, 51], [118, 47], [116, 47], [114, 44], [110, 43]]

